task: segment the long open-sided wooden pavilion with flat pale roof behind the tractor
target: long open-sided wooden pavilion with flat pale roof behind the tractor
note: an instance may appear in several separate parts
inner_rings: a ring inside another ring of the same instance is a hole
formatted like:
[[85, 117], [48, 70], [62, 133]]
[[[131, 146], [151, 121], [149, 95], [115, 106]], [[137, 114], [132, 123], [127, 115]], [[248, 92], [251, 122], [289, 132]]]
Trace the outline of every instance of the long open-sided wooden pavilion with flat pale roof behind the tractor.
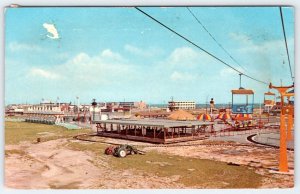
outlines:
[[213, 122], [165, 119], [93, 121], [99, 136], [151, 143], [175, 143], [205, 139]]

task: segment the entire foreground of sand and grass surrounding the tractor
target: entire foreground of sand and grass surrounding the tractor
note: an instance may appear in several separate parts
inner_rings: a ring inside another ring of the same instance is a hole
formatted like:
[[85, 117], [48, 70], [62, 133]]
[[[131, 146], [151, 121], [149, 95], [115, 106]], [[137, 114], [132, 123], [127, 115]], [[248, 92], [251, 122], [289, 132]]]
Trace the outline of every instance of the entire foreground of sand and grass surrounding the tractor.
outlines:
[[[38, 132], [29, 133], [32, 127]], [[207, 141], [217, 146], [188, 147], [142, 147], [150, 144], [130, 142], [145, 150], [146, 155], [131, 155], [121, 159], [103, 154], [108, 144], [74, 140], [72, 135], [79, 132], [66, 132], [65, 129], [53, 127], [41, 130], [43, 125], [7, 123], [7, 187], [175, 189], [286, 188], [294, 185], [293, 174], [270, 172], [270, 169], [277, 168], [278, 165], [277, 149], [234, 146], [233, 143], [229, 145], [220, 141]], [[11, 133], [18, 132], [17, 128], [22, 128], [22, 133], [27, 130], [26, 135], [11, 141], [10, 137], [14, 137]], [[36, 143], [36, 137], [41, 137], [42, 141]], [[293, 152], [289, 152], [289, 160], [292, 172]], [[235, 165], [228, 165], [229, 162]]]

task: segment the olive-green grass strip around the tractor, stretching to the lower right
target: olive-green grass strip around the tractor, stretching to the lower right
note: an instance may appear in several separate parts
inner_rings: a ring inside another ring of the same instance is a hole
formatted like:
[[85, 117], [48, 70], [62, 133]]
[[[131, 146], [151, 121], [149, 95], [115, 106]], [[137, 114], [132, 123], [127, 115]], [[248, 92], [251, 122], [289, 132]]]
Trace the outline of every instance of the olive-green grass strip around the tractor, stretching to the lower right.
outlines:
[[106, 156], [104, 149], [108, 145], [99, 143], [68, 143], [74, 150], [91, 151], [96, 160], [108, 162], [118, 170], [135, 169], [146, 176], [178, 176], [178, 183], [196, 188], [257, 188], [262, 183], [262, 176], [245, 166], [231, 166], [224, 162], [195, 159], [147, 152], [146, 155], [129, 155], [125, 158]]

